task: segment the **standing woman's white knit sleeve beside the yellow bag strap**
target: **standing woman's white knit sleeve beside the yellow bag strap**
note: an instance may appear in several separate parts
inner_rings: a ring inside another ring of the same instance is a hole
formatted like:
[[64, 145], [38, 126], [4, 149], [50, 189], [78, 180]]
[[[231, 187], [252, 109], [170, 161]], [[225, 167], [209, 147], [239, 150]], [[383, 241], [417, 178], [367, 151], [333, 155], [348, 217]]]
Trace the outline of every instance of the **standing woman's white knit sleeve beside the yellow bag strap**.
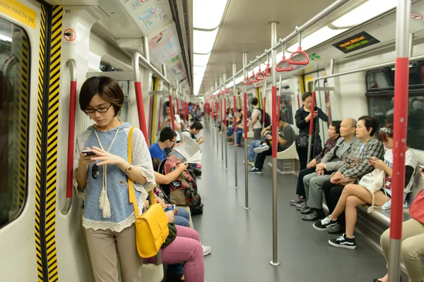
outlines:
[[[153, 171], [153, 164], [151, 159], [151, 154], [148, 151], [146, 144], [146, 139], [144, 135], [138, 128], [134, 128], [133, 131], [133, 149], [132, 149], [132, 165], [140, 169], [141, 175], [146, 178], [147, 182], [143, 185], [134, 182], [134, 187], [136, 190], [146, 192], [153, 189], [155, 186], [155, 174]], [[142, 186], [142, 187], [140, 187]]]

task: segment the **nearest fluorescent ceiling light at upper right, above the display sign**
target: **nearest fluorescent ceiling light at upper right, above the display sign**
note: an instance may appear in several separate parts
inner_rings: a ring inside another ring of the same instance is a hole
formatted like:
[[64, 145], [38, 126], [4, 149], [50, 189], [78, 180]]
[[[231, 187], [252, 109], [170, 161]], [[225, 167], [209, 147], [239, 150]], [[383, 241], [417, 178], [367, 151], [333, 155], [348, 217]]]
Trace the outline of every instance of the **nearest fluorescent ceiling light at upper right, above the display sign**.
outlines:
[[364, 4], [334, 20], [335, 27], [353, 27], [385, 13], [397, 5], [397, 0], [368, 0]]

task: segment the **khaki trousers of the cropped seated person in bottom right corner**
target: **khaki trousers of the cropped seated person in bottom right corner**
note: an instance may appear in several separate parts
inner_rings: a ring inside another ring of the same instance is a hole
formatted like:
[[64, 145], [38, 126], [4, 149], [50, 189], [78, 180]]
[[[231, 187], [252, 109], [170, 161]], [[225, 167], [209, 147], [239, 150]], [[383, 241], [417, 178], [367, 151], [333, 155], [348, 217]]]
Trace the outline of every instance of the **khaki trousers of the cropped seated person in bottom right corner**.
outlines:
[[[390, 229], [384, 231], [380, 244], [383, 255], [389, 265]], [[405, 264], [409, 282], [423, 281], [420, 256], [424, 254], [424, 225], [415, 219], [402, 223], [401, 259]]]

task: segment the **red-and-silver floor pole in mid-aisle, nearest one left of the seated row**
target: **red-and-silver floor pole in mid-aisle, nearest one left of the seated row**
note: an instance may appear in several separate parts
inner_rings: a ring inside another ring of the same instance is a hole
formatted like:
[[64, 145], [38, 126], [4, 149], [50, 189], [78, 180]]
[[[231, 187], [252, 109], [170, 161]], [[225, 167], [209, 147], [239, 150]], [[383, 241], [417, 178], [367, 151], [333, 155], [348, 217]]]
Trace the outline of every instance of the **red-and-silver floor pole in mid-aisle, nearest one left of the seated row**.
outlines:
[[[271, 23], [271, 46], [277, 42], [277, 23]], [[272, 117], [272, 260], [269, 262], [273, 266], [280, 265], [277, 259], [277, 123], [276, 123], [276, 104], [277, 104], [277, 78], [276, 78], [276, 50], [271, 50], [272, 68], [271, 68], [271, 117]]]

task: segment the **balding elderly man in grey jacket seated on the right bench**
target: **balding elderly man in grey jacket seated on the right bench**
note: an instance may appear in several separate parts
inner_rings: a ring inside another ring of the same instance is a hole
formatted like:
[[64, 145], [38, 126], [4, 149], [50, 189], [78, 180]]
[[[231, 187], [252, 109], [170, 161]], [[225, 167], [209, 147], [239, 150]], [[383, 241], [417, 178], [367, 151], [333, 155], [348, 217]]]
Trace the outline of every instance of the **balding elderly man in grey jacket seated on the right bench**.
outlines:
[[322, 210], [322, 184], [331, 179], [331, 173], [341, 168], [344, 164], [343, 159], [351, 153], [353, 143], [356, 140], [355, 130], [356, 121], [353, 118], [344, 119], [340, 125], [341, 138], [338, 139], [336, 147], [325, 154], [321, 162], [317, 164], [314, 173], [303, 177], [309, 209], [301, 211], [302, 214], [307, 214], [302, 216], [302, 220], [316, 221], [325, 217]]

